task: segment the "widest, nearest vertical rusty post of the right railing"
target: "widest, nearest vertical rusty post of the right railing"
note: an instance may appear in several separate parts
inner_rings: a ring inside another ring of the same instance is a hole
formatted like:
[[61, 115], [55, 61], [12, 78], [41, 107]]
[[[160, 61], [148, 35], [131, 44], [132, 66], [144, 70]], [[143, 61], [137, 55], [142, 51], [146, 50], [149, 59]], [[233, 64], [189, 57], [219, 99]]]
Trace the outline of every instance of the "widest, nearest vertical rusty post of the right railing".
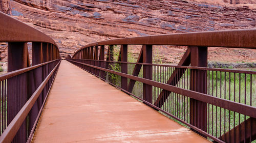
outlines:
[[[189, 46], [188, 48], [190, 48], [191, 66], [207, 67], [207, 47]], [[207, 94], [206, 71], [194, 69], [190, 70], [190, 90]], [[205, 102], [191, 98], [189, 102], [190, 124], [198, 127], [203, 131], [207, 131], [207, 104]]]

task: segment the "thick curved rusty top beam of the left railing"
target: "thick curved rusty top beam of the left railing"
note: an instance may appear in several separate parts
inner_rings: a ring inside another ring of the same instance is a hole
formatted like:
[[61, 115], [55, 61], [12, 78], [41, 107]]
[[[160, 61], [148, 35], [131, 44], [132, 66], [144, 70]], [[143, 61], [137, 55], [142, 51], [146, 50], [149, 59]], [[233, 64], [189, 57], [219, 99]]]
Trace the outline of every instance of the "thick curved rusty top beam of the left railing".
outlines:
[[46, 42], [57, 44], [46, 34], [0, 12], [0, 42]]

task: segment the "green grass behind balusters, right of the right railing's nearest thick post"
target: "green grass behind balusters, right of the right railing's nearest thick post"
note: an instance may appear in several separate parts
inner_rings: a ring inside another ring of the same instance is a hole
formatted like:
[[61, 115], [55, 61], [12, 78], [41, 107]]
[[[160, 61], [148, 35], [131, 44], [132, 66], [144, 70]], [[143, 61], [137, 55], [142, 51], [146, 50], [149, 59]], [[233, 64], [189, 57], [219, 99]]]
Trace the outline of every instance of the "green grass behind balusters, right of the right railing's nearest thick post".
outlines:
[[[211, 71], [208, 73], [208, 78], [210, 79], [208, 82], [209, 95], [256, 106], [256, 101], [254, 100], [256, 98], [254, 94], [256, 91], [256, 75]], [[251, 87], [250, 84], [252, 84]], [[227, 131], [229, 129], [229, 126], [230, 129], [232, 129], [249, 118], [240, 113], [234, 113], [233, 111], [212, 105], [208, 105], [208, 111], [208, 118], [214, 119], [213, 121], [208, 121], [210, 125], [208, 132], [214, 136], [216, 136], [216, 134], [220, 136], [225, 130]], [[226, 119], [226, 122], [223, 119]], [[226, 128], [224, 129], [224, 127], [222, 127], [222, 132], [215, 132], [215, 130], [218, 130], [218, 128], [223, 125], [225, 125]]]

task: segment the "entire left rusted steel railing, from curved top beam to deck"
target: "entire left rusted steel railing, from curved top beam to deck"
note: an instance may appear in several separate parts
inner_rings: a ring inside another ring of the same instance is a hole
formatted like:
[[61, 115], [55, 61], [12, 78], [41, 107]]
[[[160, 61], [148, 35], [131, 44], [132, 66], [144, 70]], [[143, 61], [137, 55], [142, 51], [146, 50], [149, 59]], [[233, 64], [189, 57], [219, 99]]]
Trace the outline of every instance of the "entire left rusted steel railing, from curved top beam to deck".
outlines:
[[[0, 142], [30, 142], [60, 63], [52, 38], [0, 12], [8, 73], [0, 75]], [[32, 66], [27, 43], [32, 42]]]

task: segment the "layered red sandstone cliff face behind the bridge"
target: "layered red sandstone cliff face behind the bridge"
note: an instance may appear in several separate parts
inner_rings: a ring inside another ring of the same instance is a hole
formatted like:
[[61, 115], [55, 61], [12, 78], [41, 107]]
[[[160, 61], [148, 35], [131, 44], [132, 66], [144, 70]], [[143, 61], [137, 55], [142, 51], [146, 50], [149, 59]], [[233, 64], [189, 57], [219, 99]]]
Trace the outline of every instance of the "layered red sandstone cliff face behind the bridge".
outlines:
[[[2, 0], [0, 10], [52, 37], [62, 55], [107, 39], [256, 27], [255, 9], [183, 0]], [[161, 52], [167, 59], [168, 51]]]

